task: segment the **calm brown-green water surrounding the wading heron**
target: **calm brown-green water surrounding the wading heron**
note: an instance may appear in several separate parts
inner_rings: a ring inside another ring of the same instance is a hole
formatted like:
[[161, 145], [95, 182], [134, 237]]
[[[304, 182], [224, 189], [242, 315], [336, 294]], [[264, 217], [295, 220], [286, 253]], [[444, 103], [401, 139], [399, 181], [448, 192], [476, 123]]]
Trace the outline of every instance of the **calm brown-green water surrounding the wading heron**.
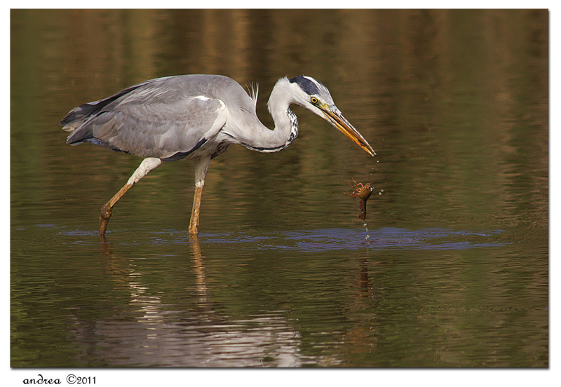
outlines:
[[[69, 147], [73, 107], [172, 74], [307, 74], [278, 154]], [[346, 183], [374, 182], [367, 224]], [[546, 11], [12, 11], [12, 367], [548, 367]]]

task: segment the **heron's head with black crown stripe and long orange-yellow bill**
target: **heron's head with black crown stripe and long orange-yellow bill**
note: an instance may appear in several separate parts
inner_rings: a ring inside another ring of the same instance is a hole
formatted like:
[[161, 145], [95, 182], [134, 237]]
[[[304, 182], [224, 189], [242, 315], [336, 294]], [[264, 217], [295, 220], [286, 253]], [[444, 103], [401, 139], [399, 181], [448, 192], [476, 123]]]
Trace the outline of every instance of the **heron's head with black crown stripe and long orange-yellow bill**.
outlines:
[[313, 111], [335, 128], [341, 130], [346, 137], [349, 137], [352, 142], [367, 151], [370, 156], [376, 156], [376, 152], [370, 147], [370, 144], [337, 109], [329, 90], [323, 86], [323, 83], [316, 81], [311, 76], [304, 75], [288, 79], [288, 82], [292, 90], [293, 101], [296, 104]]

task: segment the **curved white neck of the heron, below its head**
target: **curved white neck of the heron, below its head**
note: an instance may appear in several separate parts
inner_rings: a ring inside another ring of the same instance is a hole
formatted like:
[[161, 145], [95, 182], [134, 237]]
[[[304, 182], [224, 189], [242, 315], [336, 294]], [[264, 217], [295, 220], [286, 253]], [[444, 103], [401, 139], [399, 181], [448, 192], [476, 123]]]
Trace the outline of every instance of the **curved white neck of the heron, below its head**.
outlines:
[[288, 79], [279, 79], [269, 97], [267, 106], [273, 116], [275, 129], [270, 130], [260, 125], [244, 139], [245, 147], [259, 152], [278, 152], [295, 140], [298, 135], [298, 118], [289, 107], [293, 102], [289, 87]]

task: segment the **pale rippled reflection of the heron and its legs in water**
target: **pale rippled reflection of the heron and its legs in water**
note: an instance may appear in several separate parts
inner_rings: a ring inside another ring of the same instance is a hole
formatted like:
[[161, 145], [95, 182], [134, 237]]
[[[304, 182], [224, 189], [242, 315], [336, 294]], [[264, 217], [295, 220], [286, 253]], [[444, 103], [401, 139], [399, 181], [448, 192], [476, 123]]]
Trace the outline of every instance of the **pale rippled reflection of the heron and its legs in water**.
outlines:
[[[198, 236], [189, 238], [195, 286], [175, 283], [182, 302], [165, 302], [151, 290], [150, 272], [133, 259], [119, 257], [107, 239], [101, 254], [114, 283], [126, 284], [128, 300], [114, 313], [95, 322], [88, 334], [93, 351], [107, 365], [138, 367], [298, 367], [300, 334], [285, 311], [267, 311], [245, 318], [220, 312], [226, 300], [212, 300], [205, 257]], [[179, 289], [178, 289], [179, 288]], [[194, 294], [195, 293], [195, 294]]]

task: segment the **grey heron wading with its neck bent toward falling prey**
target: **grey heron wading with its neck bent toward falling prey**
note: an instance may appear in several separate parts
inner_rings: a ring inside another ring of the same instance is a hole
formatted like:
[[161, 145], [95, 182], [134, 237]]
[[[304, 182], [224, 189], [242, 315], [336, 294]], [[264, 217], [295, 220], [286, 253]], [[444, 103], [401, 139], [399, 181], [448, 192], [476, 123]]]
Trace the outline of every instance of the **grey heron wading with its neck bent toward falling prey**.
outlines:
[[104, 236], [114, 205], [151, 170], [167, 161], [188, 158], [195, 165], [195, 194], [189, 234], [198, 234], [201, 194], [208, 165], [231, 144], [253, 151], [277, 152], [298, 135], [298, 120], [290, 104], [313, 111], [359, 147], [374, 150], [335, 106], [329, 90], [311, 76], [281, 78], [267, 106], [274, 130], [257, 118], [257, 88], [249, 93], [221, 75], [180, 75], [151, 79], [111, 97], [70, 111], [60, 125], [70, 132], [67, 144], [90, 142], [144, 158], [128, 182], [101, 208]]

